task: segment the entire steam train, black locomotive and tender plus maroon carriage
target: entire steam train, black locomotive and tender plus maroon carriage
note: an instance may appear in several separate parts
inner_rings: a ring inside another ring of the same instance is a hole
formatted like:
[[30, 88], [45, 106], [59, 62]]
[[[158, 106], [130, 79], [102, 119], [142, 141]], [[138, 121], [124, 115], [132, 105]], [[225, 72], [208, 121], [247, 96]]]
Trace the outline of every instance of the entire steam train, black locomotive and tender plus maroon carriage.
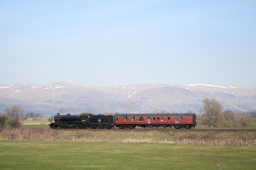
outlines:
[[196, 114], [116, 114], [116, 115], [60, 115], [54, 116], [54, 121], [48, 125], [50, 128], [92, 128], [92, 129], [134, 129], [136, 126], [143, 128], [172, 126], [175, 129], [190, 129], [196, 126]]

